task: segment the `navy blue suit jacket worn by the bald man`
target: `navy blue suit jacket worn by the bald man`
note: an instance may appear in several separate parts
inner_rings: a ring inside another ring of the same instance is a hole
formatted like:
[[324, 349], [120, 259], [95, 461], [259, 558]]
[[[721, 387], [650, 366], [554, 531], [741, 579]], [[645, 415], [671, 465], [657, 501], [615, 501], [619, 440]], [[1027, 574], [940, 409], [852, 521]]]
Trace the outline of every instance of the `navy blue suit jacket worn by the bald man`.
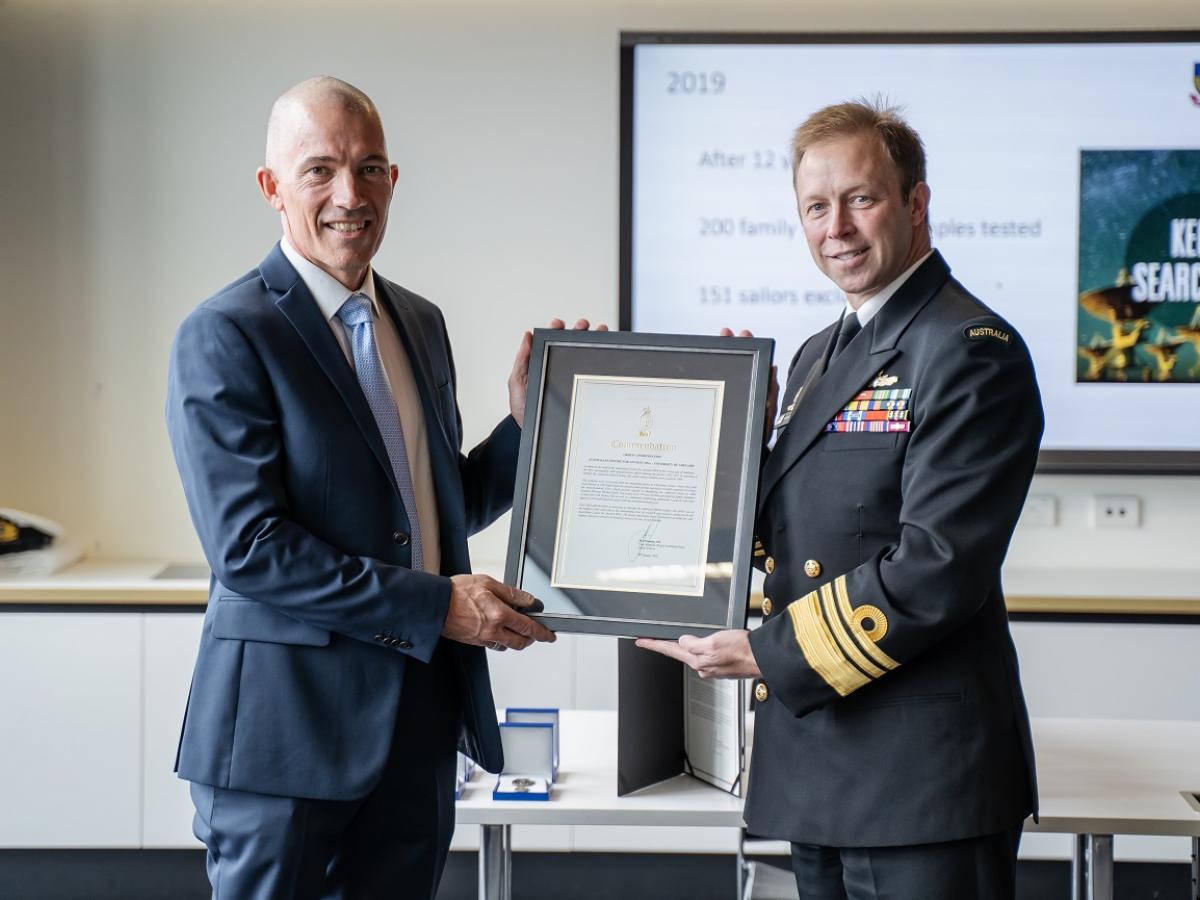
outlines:
[[[378, 781], [409, 659], [438, 644], [467, 536], [509, 509], [520, 428], [468, 456], [440, 311], [376, 276], [421, 397], [442, 571], [413, 571], [400, 493], [329, 324], [278, 245], [202, 304], [170, 355], [167, 425], [212, 569], [176, 770], [257, 793], [355, 799]], [[448, 642], [460, 748], [503, 763], [487, 662]], [[402, 727], [420, 728], [414, 721]]]

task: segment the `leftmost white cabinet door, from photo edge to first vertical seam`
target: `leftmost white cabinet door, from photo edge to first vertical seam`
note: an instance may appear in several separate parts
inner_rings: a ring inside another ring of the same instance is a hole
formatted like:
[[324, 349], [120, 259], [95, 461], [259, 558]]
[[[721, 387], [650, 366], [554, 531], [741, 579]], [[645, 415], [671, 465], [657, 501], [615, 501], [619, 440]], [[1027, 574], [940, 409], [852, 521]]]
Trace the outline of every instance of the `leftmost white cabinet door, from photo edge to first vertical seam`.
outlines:
[[139, 845], [142, 625], [0, 616], [0, 846]]

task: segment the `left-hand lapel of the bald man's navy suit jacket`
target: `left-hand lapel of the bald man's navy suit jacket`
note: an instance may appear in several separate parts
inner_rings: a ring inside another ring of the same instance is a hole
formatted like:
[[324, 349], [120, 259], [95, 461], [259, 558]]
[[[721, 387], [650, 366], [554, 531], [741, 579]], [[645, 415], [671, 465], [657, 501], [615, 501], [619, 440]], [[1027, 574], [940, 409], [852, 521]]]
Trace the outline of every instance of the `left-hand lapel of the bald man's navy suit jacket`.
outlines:
[[367, 400], [362, 395], [359, 379], [355, 377], [354, 370], [346, 361], [346, 354], [342, 353], [342, 348], [338, 347], [337, 341], [334, 338], [334, 332], [330, 331], [329, 323], [325, 320], [312, 294], [308, 293], [308, 288], [305, 287], [304, 280], [292, 268], [292, 264], [283, 256], [283, 251], [280, 250], [278, 245], [275, 246], [275, 250], [271, 251], [259, 266], [259, 271], [263, 274], [263, 280], [266, 282], [268, 288], [281, 294], [275, 301], [276, 308], [292, 323], [292, 328], [300, 335], [300, 340], [305, 342], [308, 352], [316, 358], [322, 371], [334, 383], [337, 392], [350, 410], [355, 424], [359, 426], [359, 431], [362, 432], [362, 439], [367, 442], [371, 452], [374, 454], [379, 461], [379, 466], [383, 467], [392, 490], [398, 492], [396, 475], [391, 470], [391, 460], [388, 457], [388, 449], [379, 436], [379, 426], [376, 424], [371, 407], [367, 406]]

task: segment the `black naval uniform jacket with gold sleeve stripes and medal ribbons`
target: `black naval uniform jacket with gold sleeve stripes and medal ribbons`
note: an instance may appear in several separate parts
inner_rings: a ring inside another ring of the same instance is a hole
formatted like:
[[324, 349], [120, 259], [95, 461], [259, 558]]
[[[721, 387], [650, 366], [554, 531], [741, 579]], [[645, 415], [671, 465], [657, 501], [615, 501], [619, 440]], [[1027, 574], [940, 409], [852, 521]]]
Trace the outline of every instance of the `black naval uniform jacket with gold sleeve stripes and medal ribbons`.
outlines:
[[[866, 847], [1015, 827], [1037, 784], [1000, 568], [1042, 437], [1028, 350], [937, 252], [826, 368], [836, 330], [793, 360], [762, 470], [748, 828]], [[876, 390], [908, 390], [908, 431], [827, 431]]]

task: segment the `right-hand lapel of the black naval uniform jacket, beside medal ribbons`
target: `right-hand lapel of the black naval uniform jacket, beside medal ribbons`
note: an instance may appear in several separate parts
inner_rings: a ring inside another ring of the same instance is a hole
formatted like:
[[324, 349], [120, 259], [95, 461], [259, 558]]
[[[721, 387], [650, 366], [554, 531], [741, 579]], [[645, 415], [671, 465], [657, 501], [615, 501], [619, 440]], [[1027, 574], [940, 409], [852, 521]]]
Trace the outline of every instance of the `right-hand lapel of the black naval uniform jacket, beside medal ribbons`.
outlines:
[[941, 253], [934, 251], [892, 299], [883, 304], [862, 334], [829, 364], [824, 374], [820, 372], [826, 355], [815, 360], [796, 414], [779, 436], [763, 467], [758, 487], [760, 510], [784, 473], [823, 433], [829, 420], [900, 354], [896, 349], [900, 336], [949, 275], [950, 270]]

